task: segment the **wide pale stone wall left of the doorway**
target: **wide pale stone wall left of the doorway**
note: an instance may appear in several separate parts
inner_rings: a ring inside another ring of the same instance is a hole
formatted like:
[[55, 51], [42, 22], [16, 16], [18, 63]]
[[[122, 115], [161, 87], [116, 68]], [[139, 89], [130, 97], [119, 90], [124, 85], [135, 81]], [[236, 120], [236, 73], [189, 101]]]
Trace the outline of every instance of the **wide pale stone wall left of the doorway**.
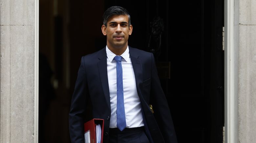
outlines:
[[34, 142], [35, 0], [0, 0], [0, 142]]

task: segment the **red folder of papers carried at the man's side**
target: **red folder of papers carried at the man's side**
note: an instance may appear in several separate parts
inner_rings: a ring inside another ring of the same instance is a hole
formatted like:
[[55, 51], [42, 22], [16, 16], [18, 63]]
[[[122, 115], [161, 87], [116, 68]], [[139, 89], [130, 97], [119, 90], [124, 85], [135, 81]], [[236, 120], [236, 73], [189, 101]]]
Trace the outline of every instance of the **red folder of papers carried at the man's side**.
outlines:
[[103, 143], [104, 119], [92, 119], [84, 123], [84, 133], [90, 130], [90, 143], [96, 143], [96, 124], [100, 124], [100, 127], [101, 127], [100, 143]]

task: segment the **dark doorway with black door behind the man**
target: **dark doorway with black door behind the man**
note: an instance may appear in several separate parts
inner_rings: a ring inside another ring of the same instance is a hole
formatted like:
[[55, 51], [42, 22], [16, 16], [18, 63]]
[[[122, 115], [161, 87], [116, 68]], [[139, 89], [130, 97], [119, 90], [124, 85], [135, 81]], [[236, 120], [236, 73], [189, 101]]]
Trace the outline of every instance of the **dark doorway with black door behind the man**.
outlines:
[[[39, 142], [70, 143], [80, 59], [106, 45], [102, 15], [111, 6], [130, 12], [129, 46], [155, 55], [178, 142], [222, 143], [224, 0], [39, 0]], [[156, 18], [159, 39], [151, 32]]]

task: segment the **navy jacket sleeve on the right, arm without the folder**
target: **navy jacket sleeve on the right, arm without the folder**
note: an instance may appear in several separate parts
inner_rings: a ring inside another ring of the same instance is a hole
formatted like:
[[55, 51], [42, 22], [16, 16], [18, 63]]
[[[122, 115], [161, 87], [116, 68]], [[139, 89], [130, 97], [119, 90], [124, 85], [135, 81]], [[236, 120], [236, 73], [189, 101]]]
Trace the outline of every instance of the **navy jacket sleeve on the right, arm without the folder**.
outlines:
[[177, 143], [176, 134], [173, 126], [173, 121], [170, 109], [162, 90], [160, 80], [157, 73], [154, 55], [152, 56], [152, 75], [151, 75], [151, 103], [154, 109], [154, 116], [157, 120], [165, 143]]

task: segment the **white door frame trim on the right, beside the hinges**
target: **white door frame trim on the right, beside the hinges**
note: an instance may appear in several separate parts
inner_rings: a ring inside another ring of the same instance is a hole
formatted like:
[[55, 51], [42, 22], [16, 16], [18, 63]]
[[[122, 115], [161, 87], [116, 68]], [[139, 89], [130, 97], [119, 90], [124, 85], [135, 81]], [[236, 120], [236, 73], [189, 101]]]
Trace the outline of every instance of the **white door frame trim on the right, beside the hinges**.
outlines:
[[238, 142], [238, 96], [236, 92], [236, 84], [238, 72], [238, 60], [235, 55], [234, 41], [234, 1], [224, 1], [224, 27], [225, 27], [225, 50], [224, 50], [224, 82], [225, 82], [225, 143]]

